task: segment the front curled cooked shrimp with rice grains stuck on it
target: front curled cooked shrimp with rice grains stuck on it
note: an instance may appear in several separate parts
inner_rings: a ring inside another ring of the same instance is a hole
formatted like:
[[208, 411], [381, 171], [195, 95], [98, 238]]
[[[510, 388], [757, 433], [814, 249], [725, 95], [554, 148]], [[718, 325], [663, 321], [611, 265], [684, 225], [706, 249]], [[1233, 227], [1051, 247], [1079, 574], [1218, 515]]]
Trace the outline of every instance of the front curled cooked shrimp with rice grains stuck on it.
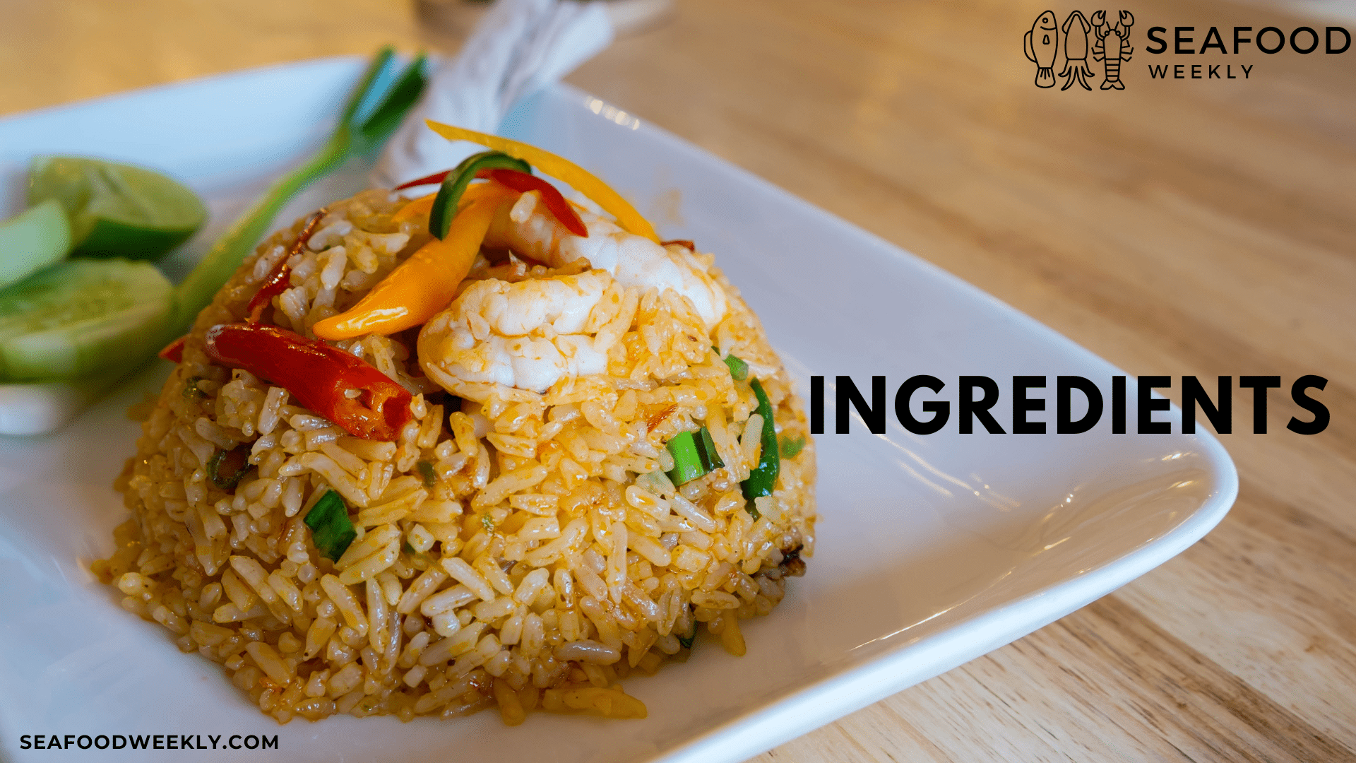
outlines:
[[605, 373], [637, 297], [605, 270], [476, 281], [424, 324], [420, 364], [445, 390], [477, 402], [498, 384], [541, 392], [565, 376]]

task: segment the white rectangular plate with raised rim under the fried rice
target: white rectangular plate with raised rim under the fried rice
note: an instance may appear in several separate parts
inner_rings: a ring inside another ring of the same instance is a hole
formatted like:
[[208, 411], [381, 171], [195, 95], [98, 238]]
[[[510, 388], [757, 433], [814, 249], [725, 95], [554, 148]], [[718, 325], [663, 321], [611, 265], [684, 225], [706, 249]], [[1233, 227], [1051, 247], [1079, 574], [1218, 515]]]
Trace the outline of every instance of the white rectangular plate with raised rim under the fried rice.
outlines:
[[[0, 119], [0, 212], [20, 206], [34, 153], [87, 153], [175, 174], [199, 190], [212, 228], [172, 274], [263, 185], [328, 132], [357, 60], [325, 60], [153, 88]], [[659, 129], [557, 87], [504, 126], [606, 178], [666, 238], [696, 239], [742, 289], [799, 379], [854, 375], [891, 395], [913, 373], [999, 382], [1008, 428], [1016, 373], [1116, 371], [975, 288]], [[294, 216], [362, 187], [362, 167], [298, 200]], [[4, 193], [7, 190], [8, 193]], [[281, 224], [281, 221], [279, 221]], [[129, 403], [164, 365], [123, 384], [71, 426], [0, 439], [0, 745], [22, 734], [278, 734], [294, 762], [740, 760], [1002, 646], [1178, 554], [1229, 510], [1237, 474], [1204, 434], [823, 434], [819, 543], [786, 600], [747, 623], [749, 654], [711, 639], [693, 658], [626, 690], [644, 721], [533, 714], [506, 728], [487, 711], [453, 722], [335, 717], [278, 726], [164, 629], [123, 612], [88, 563], [126, 519], [110, 485], [133, 452]], [[1047, 392], [1052, 392], [1052, 388]], [[833, 430], [833, 387], [826, 409]], [[1131, 395], [1134, 398], [1134, 395]], [[1050, 405], [1054, 409], [1054, 403]], [[1174, 414], [1176, 415], [1176, 414]], [[1048, 421], [1052, 410], [1035, 414]], [[1166, 420], [1166, 414], [1159, 414]], [[1135, 421], [1131, 405], [1130, 421]], [[88, 755], [88, 753], [84, 753]], [[100, 759], [178, 760], [178, 751]], [[259, 752], [194, 752], [258, 760]]]

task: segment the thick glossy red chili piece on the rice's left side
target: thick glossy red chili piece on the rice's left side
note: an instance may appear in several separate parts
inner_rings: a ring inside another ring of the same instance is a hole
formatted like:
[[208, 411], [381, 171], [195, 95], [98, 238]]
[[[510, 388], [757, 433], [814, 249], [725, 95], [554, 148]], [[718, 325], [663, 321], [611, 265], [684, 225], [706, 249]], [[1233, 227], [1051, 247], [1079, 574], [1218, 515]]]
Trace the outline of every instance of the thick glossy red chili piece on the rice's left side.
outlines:
[[206, 339], [216, 362], [281, 386], [354, 437], [391, 441], [411, 418], [404, 387], [339, 348], [259, 323], [221, 323]]

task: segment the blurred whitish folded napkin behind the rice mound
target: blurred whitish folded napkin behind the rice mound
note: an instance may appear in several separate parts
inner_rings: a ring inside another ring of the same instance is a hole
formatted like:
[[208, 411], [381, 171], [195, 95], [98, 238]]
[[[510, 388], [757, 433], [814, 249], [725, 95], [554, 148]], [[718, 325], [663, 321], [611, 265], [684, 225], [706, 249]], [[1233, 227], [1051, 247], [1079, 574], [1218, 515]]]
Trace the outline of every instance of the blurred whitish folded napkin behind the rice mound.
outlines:
[[472, 153], [424, 119], [492, 133], [515, 100], [565, 76], [613, 38], [605, 3], [496, 0], [461, 52], [434, 71], [423, 98], [391, 137], [372, 181], [393, 187], [454, 167]]

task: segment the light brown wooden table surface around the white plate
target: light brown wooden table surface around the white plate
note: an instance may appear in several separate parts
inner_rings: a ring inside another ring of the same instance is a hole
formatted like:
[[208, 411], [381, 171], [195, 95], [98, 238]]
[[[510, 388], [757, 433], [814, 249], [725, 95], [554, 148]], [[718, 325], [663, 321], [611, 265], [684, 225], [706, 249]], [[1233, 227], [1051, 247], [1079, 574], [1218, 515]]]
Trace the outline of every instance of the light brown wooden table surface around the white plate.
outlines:
[[[1243, 433], [1235, 392], [1238, 502], [1182, 555], [758, 760], [1356, 759], [1356, 52], [1153, 56], [1155, 24], [1322, 19], [1144, 0], [1124, 91], [1041, 90], [1044, 8], [681, 0], [570, 77], [1130, 373], [1330, 380], [1317, 436], [1284, 391]], [[399, 0], [0, 0], [0, 114], [446, 39]], [[1192, 62], [1252, 69], [1147, 73]]]

